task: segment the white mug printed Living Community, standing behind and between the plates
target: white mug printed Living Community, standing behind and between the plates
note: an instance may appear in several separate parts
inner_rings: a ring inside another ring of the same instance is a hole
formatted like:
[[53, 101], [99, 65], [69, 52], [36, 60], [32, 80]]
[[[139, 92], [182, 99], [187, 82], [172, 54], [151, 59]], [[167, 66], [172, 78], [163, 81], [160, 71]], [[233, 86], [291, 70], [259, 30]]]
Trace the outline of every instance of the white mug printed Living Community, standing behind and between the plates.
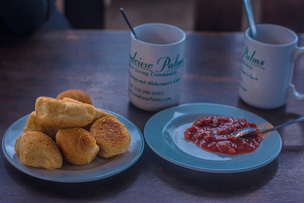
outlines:
[[129, 98], [135, 106], [158, 111], [180, 100], [186, 35], [180, 28], [147, 23], [131, 32]]

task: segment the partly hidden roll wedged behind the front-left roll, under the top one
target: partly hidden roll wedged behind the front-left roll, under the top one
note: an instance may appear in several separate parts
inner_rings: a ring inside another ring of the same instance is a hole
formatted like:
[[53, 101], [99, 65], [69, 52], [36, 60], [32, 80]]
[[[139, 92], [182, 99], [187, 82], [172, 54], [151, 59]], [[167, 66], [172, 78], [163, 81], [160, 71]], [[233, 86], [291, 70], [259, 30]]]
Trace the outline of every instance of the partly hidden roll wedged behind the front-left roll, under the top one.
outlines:
[[36, 112], [33, 111], [29, 115], [25, 127], [23, 128], [23, 132], [26, 131], [38, 131], [44, 133], [45, 135], [51, 137], [55, 141], [56, 133], [58, 132], [57, 128], [50, 127], [43, 123], [37, 116]]

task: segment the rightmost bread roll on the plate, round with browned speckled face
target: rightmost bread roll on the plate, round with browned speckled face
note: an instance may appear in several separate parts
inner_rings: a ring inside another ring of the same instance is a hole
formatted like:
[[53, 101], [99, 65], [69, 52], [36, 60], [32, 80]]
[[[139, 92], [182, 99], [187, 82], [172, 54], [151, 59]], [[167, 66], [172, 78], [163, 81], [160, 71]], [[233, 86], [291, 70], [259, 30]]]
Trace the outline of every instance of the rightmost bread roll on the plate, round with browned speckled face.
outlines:
[[114, 117], [106, 116], [91, 126], [90, 133], [99, 146], [98, 155], [110, 158], [129, 150], [131, 135], [126, 126]]

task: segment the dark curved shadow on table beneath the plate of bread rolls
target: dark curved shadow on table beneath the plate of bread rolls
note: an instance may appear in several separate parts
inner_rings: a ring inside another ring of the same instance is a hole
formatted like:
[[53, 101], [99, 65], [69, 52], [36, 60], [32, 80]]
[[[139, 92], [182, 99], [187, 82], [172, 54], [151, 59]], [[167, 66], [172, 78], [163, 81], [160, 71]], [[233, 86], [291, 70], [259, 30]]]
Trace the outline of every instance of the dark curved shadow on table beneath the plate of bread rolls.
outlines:
[[[119, 193], [123, 193], [131, 187], [137, 180], [140, 170], [141, 161], [139, 160], [133, 166], [125, 171], [98, 181], [85, 183], [57, 183], [45, 181], [15, 169], [8, 162], [4, 163], [5, 170], [9, 177], [18, 183], [19, 186], [31, 191], [29, 196], [47, 196], [51, 200], [54, 198], [62, 200], [98, 200], [105, 201], [113, 198]], [[17, 190], [17, 189], [16, 189]], [[27, 197], [23, 197], [27, 198]]]

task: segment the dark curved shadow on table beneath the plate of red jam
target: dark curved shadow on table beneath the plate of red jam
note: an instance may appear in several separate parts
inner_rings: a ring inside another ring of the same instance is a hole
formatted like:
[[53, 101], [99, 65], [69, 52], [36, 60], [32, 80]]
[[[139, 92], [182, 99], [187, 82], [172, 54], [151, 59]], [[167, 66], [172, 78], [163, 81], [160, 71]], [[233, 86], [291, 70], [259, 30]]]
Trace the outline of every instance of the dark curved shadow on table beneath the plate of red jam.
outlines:
[[[248, 172], [217, 174], [194, 171], [172, 164], [156, 154], [151, 154], [154, 166], [158, 167], [155, 174], [171, 187], [204, 197], [234, 197], [241, 193], [250, 193], [266, 185], [276, 174], [278, 159], [270, 164]], [[221, 193], [219, 193], [221, 192]]]

